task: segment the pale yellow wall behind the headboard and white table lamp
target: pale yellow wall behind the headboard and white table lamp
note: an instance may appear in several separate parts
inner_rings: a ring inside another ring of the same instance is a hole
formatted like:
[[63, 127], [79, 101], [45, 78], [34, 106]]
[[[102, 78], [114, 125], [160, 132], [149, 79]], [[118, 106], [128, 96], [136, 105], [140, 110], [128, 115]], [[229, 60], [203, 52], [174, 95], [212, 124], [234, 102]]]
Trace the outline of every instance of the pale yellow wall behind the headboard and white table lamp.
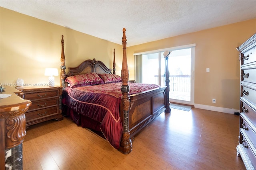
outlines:
[[[44, 76], [46, 67], [58, 68], [60, 72], [61, 35], [64, 35], [67, 68], [95, 58], [112, 69], [114, 48], [116, 63], [122, 63], [122, 45], [2, 7], [0, 15], [2, 84], [15, 83], [17, 78], [22, 78], [25, 84], [48, 83], [48, 76]], [[122, 43], [122, 28], [119, 36]], [[121, 75], [118, 66], [116, 74]], [[60, 75], [55, 76], [55, 85], [60, 85]]]

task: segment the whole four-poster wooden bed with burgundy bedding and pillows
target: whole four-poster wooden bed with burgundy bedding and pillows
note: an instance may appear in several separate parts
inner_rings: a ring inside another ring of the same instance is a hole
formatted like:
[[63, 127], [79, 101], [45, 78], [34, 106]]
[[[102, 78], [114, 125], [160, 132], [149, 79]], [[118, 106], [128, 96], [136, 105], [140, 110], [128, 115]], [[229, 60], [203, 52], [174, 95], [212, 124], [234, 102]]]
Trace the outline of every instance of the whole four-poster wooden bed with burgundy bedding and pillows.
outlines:
[[104, 63], [95, 59], [86, 60], [77, 67], [69, 67], [66, 74], [63, 35], [60, 77], [64, 87], [63, 114], [77, 125], [101, 131], [114, 148], [128, 154], [132, 151], [131, 139], [160, 113], [170, 113], [171, 109], [168, 64], [166, 86], [128, 83], [125, 32], [124, 28], [121, 77], [115, 74], [115, 52], [113, 74]]

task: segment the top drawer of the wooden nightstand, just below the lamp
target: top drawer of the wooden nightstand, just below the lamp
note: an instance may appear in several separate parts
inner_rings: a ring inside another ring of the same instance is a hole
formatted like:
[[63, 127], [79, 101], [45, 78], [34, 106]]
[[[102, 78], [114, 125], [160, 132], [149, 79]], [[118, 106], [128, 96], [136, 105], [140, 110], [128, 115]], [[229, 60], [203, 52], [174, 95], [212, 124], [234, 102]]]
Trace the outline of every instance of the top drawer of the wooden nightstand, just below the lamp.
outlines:
[[53, 91], [37, 91], [34, 93], [24, 93], [24, 99], [27, 100], [40, 100], [44, 98], [51, 98], [51, 97], [58, 97], [59, 93], [58, 90], [53, 90]]

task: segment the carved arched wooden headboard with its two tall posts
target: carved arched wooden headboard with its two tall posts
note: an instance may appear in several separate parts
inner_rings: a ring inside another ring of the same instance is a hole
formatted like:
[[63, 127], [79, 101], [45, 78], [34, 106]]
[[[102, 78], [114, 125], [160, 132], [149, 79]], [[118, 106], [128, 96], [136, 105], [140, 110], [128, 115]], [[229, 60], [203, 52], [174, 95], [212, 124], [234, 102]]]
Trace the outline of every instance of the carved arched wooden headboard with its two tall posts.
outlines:
[[[62, 43], [62, 52], [61, 52], [61, 73], [60, 73], [60, 78], [61, 78], [61, 85], [62, 87], [67, 87], [68, 83], [65, 82], [66, 78], [69, 76], [75, 76], [75, 75], [79, 75], [79, 74], [86, 74], [86, 73], [90, 73], [90, 72], [96, 72], [97, 74], [112, 74], [112, 69], [109, 69], [106, 67], [106, 65], [102, 62], [102, 61], [96, 61], [95, 59], [91, 60], [88, 59], [84, 62], [82, 62], [79, 66], [77, 67], [68, 67], [69, 72], [68, 74], [66, 74], [66, 66], [65, 66], [65, 55], [64, 55], [64, 39], [63, 39], [63, 35], [62, 35], [62, 39], [61, 39], [61, 43]], [[114, 62], [113, 62], [113, 74], [116, 74], [115, 70], [116, 70], [116, 62], [115, 62], [115, 49], [114, 49]]]

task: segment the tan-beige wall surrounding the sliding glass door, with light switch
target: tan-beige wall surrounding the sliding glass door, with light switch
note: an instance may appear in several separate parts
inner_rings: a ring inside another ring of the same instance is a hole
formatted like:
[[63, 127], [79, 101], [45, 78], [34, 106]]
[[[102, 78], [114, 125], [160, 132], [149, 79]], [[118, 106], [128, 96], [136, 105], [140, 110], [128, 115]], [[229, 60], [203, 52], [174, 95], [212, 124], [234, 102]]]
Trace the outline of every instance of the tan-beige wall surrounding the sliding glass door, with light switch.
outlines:
[[194, 103], [239, 109], [240, 70], [236, 47], [255, 32], [256, 19], [128, 47], [130, 79], [134, 77], [134, 53], [195, 43]]

